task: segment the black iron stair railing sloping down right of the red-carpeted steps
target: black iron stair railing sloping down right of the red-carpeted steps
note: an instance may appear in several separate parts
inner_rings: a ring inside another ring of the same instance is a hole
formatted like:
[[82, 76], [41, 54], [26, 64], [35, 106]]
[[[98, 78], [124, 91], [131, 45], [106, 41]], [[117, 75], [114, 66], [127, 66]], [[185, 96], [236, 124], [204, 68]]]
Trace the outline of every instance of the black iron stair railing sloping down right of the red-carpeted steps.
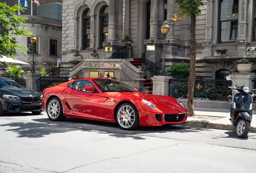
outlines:
[[142, 54], [142, 71], [149, 76], [159, 76], [161, 68], [146, 58], [146, 52]]

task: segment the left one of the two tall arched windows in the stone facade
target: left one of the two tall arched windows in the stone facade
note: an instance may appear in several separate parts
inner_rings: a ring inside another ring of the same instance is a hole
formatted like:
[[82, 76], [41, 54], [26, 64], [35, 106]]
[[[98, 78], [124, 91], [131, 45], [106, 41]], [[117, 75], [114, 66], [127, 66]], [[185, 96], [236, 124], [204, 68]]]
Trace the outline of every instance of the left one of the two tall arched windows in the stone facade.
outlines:
[[83, 18], [83, 50], [90, 48], [91, 43], [91, 18], [90, 15], [91, 10], [85, 10], [82, 18]]

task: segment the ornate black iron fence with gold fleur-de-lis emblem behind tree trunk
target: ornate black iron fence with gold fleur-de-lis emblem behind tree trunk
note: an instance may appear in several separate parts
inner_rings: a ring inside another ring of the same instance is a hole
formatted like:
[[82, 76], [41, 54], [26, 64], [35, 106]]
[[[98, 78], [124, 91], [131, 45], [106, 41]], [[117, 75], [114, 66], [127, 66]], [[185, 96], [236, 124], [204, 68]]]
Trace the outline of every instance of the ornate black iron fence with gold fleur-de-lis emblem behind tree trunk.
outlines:
[[[211, 80], [196, 78], [194, 97], [208, 99], [232, 99], [231, 80]], [[174, 98], [188, 97], [188, 79], [170, 79], [169, 96]]]

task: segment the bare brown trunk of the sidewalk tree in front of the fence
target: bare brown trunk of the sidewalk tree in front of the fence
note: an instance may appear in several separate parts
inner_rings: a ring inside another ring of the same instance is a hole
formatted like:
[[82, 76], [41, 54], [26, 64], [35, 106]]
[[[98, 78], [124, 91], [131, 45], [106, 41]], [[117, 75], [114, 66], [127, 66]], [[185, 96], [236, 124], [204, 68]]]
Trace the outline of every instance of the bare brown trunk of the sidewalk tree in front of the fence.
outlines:
[[196, 73], [196, 15], [191, 17], [190, 26], [190, 71], [188, 80], [188, 116], [194, 115], [194, 85]]

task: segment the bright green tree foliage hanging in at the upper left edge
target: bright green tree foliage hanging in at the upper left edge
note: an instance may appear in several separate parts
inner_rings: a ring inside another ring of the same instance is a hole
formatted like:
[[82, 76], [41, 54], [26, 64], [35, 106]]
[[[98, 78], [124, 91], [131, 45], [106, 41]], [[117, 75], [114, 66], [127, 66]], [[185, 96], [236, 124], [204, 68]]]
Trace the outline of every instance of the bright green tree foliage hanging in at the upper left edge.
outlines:
[[0, 33], [0, 56], [5, 55], [14, 58], [17, 52], [27, 56], [23, 50], [28, 50], [28, 48], [20, 46], [18, 42], [12, 38], [12, 35], [33, 35], [32, 32], [26, 31], [24, 27], [21, 27], [24, 25], [27, 18], [16, 15], [16, 11], [23, 11], [24, 9], [25, 8], [17, 6], [16, 4], [14, 6], [7, 6], [6, 3], [0, 3], [0, 26], [9, 31], [9, 34], [7, 32]]

